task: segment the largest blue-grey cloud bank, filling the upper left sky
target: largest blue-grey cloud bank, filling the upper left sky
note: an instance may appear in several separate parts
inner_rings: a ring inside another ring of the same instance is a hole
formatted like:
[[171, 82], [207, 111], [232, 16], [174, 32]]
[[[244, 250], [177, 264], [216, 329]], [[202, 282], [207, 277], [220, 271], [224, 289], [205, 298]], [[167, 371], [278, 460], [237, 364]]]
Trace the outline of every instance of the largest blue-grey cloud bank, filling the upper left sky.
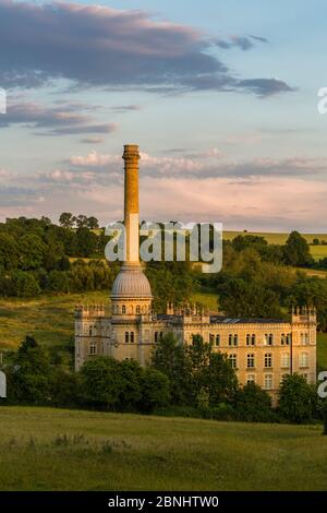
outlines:
[[[154, 93], [214, 90], [267, 96], [292, 91], [281, 81], [269, 88], [265, 79], [240, 84], [209, 51], [217, 45], [223, 46], [193, 27], [154, 21], [145, 11], [0, 0], [3, 87], [37, 87], [65, 79], [78, 87]], [[229, 45], [245, 50], [253, 39], [234, 36]]]

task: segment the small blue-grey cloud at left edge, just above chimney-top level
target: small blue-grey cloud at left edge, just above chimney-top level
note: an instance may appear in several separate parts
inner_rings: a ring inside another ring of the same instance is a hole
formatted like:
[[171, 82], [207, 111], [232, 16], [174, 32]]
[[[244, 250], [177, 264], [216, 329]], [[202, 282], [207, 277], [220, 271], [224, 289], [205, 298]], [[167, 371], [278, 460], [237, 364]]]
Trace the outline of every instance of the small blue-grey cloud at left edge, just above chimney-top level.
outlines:
[[41, 135], [110, 133], [117, 130], [116, 123], [95, 123], [89, 114], [97, 107], [80, 104], [62, 104], [46, 107], [33, 102], [10, 104], [5, 116], [0, 116], [0, 128], [23, 124], [33, 129], [41, 129], [36, 133]]

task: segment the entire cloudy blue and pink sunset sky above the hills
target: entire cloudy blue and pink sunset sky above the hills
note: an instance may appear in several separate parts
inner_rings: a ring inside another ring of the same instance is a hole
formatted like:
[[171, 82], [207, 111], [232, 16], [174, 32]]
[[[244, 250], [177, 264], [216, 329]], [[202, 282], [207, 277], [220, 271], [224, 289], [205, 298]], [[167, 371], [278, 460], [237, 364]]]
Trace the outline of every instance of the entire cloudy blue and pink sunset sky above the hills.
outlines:
[[[325, 0], [0, 0], [0, 220], [325, 232]], [[1, 97], [0, 97], [1, 99]]]

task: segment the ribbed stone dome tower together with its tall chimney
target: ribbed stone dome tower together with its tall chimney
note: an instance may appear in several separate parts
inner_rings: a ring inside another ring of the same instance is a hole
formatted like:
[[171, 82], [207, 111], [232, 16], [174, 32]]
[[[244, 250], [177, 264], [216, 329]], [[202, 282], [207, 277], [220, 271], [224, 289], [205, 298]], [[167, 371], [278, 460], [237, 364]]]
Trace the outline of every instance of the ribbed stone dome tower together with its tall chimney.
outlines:
[[150, 314], [153, 295], [149, 282], [140, 264], [138, 215], [138, 146], [124, 146], [124, 226], [125, 261], [111, 290], [113, 317]]

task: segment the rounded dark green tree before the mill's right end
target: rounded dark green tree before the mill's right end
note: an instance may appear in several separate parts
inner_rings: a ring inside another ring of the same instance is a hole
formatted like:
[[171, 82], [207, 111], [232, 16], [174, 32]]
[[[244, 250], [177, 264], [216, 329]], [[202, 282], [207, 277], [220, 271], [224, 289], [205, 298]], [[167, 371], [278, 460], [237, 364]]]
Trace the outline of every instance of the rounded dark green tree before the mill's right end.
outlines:
[[278, 392], [278, 408], [283, 418], [302, 423], [312, 418], [312, 390], [300, 374], [283, 378]]

